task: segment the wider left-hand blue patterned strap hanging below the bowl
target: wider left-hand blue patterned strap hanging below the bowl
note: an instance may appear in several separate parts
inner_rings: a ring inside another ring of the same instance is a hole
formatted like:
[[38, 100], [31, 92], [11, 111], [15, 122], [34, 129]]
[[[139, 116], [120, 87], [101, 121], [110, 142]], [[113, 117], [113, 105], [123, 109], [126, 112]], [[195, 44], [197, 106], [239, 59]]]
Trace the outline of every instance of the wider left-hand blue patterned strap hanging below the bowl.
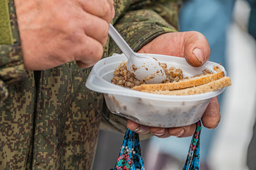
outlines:
[[145, 170], [139, 135], [132, 130], [127, 129], [119, 158], [112, 170]]

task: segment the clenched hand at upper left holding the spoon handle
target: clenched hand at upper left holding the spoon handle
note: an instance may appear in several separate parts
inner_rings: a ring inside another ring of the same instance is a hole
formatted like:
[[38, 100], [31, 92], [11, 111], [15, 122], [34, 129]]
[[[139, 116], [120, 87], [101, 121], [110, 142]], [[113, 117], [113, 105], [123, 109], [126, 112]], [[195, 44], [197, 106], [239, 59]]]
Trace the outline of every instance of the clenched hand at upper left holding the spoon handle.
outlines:
[[114, 0], [15, 0], [15, 6], [26, 69], [73, 60], [86, 68], [102, 57]]

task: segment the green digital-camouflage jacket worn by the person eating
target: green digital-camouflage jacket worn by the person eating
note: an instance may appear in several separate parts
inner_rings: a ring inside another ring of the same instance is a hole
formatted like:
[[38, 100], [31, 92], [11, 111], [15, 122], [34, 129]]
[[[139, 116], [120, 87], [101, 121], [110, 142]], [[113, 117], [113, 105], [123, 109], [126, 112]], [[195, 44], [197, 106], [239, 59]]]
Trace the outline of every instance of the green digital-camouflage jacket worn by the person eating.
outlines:
[[[115, 0], [112, 21], [138, 51], [177, 30], [176, 0]], [[104, 57], [121, 51], [110, 40]], [[100, 126], [124, 132], [104, 97], [85, 87], [91, 68], [76, 62], [27, 71], [13, 0], [0, 0], [0, 170], [90, 170]], [[97, 160], [96, 160], [97, 161]]]

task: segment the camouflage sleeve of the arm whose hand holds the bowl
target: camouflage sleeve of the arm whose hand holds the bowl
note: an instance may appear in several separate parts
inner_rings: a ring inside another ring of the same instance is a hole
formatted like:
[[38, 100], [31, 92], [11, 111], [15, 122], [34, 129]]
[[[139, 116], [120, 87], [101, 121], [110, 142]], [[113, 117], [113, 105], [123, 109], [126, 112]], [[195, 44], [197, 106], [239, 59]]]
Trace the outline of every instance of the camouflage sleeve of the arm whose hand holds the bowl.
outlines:
[[[146, 0], [132, 4], [122, 17], [114, 18], [114, 27], [134, 51], [140, 50], [148, 42], [161, 34], [177, 32], [179, 3], [173, 0]], [[117, 9], [116, 13], [120, 13]], [[109, 42], [108, 54], [122, 53], [114, 41]], [[104, 104], [102, 129], [121, 133], [126, 131], [126, 120], [111, 113]], [[151, 133], [142, 135], [148, 138]]]

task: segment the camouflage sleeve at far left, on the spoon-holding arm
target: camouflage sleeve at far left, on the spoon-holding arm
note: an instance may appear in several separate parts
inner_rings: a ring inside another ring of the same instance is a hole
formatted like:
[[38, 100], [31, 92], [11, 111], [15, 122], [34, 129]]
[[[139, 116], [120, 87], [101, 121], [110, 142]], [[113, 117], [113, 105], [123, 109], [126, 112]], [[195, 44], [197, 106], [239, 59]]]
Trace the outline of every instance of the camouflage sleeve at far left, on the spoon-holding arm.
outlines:
[[26, 78], [19, 40], [14, 0], [0, 2], [0, 102], [8, 97], [7, 87]]

